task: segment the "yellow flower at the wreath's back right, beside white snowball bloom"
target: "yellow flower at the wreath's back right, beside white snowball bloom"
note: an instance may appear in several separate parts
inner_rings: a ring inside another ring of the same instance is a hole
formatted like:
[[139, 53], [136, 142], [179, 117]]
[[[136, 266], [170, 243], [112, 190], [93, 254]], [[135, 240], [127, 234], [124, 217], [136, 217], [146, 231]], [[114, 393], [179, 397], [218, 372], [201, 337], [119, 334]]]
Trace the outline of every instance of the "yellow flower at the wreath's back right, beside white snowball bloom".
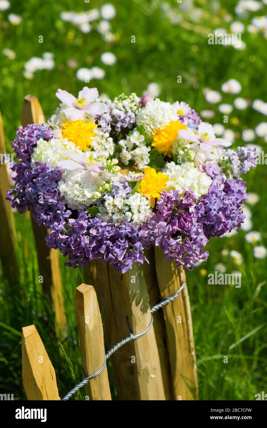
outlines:
[[178, 120], [176, 122], [172, 120], [165, 128], [155, 131], [152, 146], [155, 147], [160, 154], [164, 156], [167, 155], [171, 158], [173, 141], [178, 137], [178, 131], [186, 128], [187, 125], [183, 125]]

